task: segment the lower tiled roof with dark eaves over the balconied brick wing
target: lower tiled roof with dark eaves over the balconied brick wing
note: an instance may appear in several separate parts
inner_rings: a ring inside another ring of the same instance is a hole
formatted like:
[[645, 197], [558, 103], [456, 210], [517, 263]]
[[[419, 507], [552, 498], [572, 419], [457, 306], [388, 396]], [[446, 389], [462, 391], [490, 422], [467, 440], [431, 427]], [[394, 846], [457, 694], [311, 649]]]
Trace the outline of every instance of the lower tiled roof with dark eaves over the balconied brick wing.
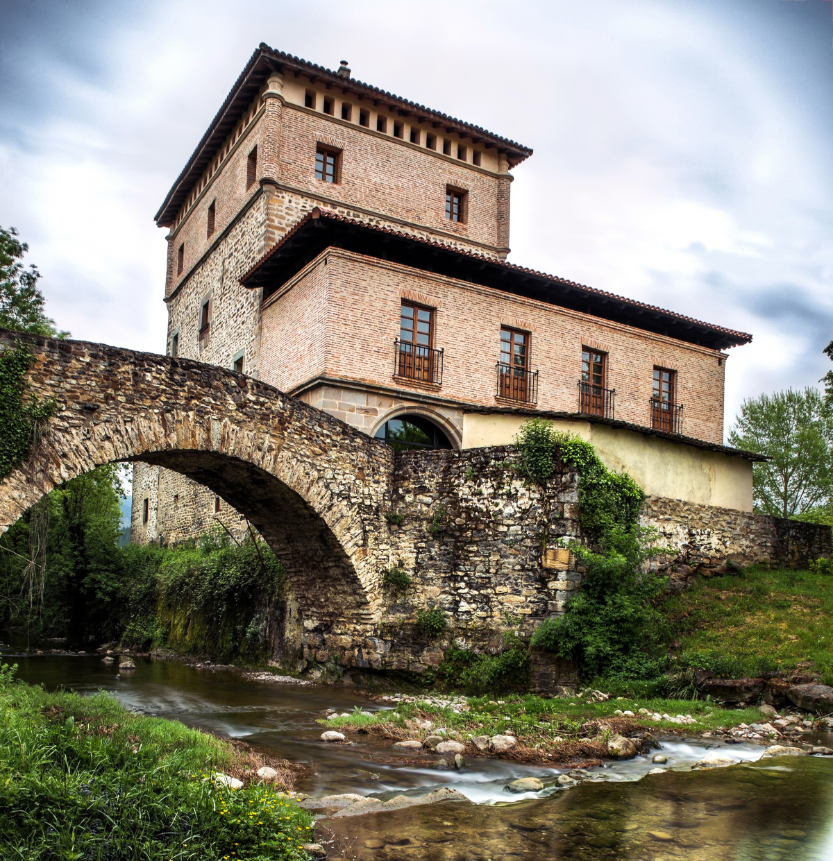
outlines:
[[[656, 314], [663, 319], [673, 320], [683, 327], [688, 327], [692, 330], [699, 330], [706, 333], [711, 333], [712, 337], [719, 344], [719, 347], [716, 349], [722, 349], [724, 347], [729, 346], [737, 346], [739, 344], [749, 344], [752, 340], [752, 336], [747, 332], [743, 331], [735, 331], [733, 329], [726, 329], [723, 326], [713, 325], [712, 323], [704, 323], [702, 320], [694, 319], [693, 317], [687, 317], [684, 314], [674, 313], [673, 311], [667, 311], [664, 308], [656, 307], [655, 305], [648, 305], [645, 302], [638, 302], [632, 299], [626, 299], [624, 296], [619, 296], [614, 293], [607, 293], [605, 290], [598, 290], [596, 288], [587, 287], [584, 284], [579, 284], [575, 281], [569, 281], [566, 278], [560, 278], [558, 276], [548, 275], [545, 272], [539, 272], [537, 269], [526, 269], [524, 266], [516, 266], [514, 263], [506, 263], [502, 260], [497, 260], [494, 257], [486, 257], [482, 254], [476, 254], [473, 251], [465, 251], [460, 248], [453, 247], [451, 245], [445, 245], [444, 243], [434, 241], [432, 239], [423, 238], [420, 236], [414, 236], [411, 233], [405, 233], [401, 231], [395, 231], [389, 227], [381, 227], [373, 224], [369, 224], [365, 221], [359, 221], [355, 219], [351, 219], [346, 217], [345, 215], [339, 215], [338, 213], [334, 213], [330, 209], [325, 209], [321, 207], [316, 207], [312, 210], [312, 212], [306, 214], [295, 226], [292, 227], [289, 232], [287, 232], [283, 238], [274, 245], [270, 251], [267, 251], [263, 257], [261, 257], [257, 263], [255, 263], [251, 269], [246, 272], [244, 276], [240, 278], [240, 283], [245, 287], [256, 288], [262, 287], [273, 278], [270, 274], [270, 261], [274, 260], [276, 257], [280, 257], [283, 251], [287, 248], [287, 246], [292, 245], [293, 242], [298, 237], [298, 234], [305, 231], [310, 222], [315, 220], [326, 220], [333, 221], [339, 224], [349, 225], [355, 228], [361, 228], [365, 232], [380, 234], [380, 235], [388, 235], [391, 237], [405, 239], [408, 242], [424, 245], [429, 248], [438, 249], [446, 252], [449, 255], [453, 255], [455, 257], [468, 258], [469, 260], [479, 263], [479, 264], [488, 264], [488, 266], [492, 269], [501, 269], [508, 273], [515, 273], [518, 276], [522, 276], [525, 279], [535, 278], [540, 279], [545, 284], [551, 285], [552, 287], [561, 287], [568, 288], [571, 291], [578, 291], [582, 297], [587, 297], [588, 300], [592, 304], [594, 304], [594, 310], [588, 313], [592, 313], [594, 316], [599, 316], [606, 319], [611, 319], [610, 314], [605, 313], [605, 306], [608, 304], [615, 303], [617, 306], [630, 310], [632, 313], [635, 313], [637, 317], [641, 317], [644, 313]], [[319, 241], [319, 237], [313, 234], [313, 241]], [[482, 265], [480, 267], [482, 269]], [[460, 276], [462, 277], [462, 274]], [[463, 280], [465, 280], [463, 278]], [[558, 301], [558, 297], [556, 295], [552, 295], [551, 298], [547, 299], [553, 304], [563, 305], [563, 302]], [[638, 329], [649, 329], [649, 331], [655, 331], [651, 329], [649, 326], [640, 325], [639, 322], [631, 322], [629, 325], [632, 325]], [[681, 338], [681, 340], [692, 340], [691, 338], [682, 337], [679, 334], [674, 334], [674, 338]]]

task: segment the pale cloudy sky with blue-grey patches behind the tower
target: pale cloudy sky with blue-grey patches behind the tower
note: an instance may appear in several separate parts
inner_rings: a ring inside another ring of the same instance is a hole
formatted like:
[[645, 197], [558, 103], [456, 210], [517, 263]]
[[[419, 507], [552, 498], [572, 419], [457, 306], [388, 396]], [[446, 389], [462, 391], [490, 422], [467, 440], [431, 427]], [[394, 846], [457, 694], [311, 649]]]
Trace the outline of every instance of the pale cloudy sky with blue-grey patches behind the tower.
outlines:
[[164, 350], [152, 216], [261, 41], [532, 146], [509, 259], [752, 332], [727, 424], [830, 366], [830, 0], [4, 0], [0, 225], [73, 337]]

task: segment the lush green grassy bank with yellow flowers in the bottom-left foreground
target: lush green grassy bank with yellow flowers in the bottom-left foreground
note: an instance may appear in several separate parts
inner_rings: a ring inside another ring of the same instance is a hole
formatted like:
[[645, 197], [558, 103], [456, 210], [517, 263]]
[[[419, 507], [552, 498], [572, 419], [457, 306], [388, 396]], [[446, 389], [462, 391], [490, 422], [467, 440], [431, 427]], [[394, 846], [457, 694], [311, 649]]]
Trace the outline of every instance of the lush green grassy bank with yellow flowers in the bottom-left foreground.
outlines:
[[[4, 861], [306, 861], [311, 818], [252, 779], [258, 761], [106, 694], [47, 693], [0, 667]], [[247, 783], [215, 785], [216, 772]]]

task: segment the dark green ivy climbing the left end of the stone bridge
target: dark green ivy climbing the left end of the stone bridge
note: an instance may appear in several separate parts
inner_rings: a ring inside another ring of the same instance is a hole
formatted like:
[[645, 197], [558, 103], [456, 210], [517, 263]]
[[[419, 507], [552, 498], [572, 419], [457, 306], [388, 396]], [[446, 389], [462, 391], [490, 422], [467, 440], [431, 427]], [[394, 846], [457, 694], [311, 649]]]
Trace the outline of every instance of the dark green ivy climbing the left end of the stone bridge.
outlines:
[[58, 409], [54, 400], [24, 402], [25, 376], [33, 364], [25, 344], [0, 350], [0, 480], [28, 460], [40, 429]]

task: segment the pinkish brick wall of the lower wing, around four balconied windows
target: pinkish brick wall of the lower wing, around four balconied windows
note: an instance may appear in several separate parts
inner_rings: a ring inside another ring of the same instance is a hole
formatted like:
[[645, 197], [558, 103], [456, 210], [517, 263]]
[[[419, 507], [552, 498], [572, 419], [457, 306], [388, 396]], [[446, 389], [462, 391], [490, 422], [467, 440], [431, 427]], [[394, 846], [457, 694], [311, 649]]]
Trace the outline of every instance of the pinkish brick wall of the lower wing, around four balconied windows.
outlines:
[[[314, 320], [308, 319], [301, 310], [312, 289], [307, 282], [317, 285], [322, 300], [322, 272], [329, 311], [317, 309]], [[295, 293], [302, 297], [297, 308]], [[650, 426], [653, 369], [660, 365], [678, 372], [677, 400], [685, 405], [687, 436], [723, 442], [725, 354], [717, 350], [336, 249], [324, 252], [277, 295], [263, 312], [263, 368], [264, 379], [285, 391], [308, 381], [306, 369], [314, 367], [323, 369], [314, 373], [328, 377], [502, 406], [507, 402], [495, 397], [495, 364], [500, 327], [511, 325], [530, 332], [539, 409], [577, 411], [581, 347], [587, 345], [608, 354], [607, 385], [616, 389], [616, 418]], [[436, 308], [434, 345], [444, 349], [441, 387], [392, 379], [403, 297]], [[320, 331], [310, 331], [313, 325]], [[272, 334], [278, 331], [279, 341]], [[317, 361], [307, 358], [301, 367], [282, 360], [296, 351], [308, 356], [313, 344], [320, 345]]]

